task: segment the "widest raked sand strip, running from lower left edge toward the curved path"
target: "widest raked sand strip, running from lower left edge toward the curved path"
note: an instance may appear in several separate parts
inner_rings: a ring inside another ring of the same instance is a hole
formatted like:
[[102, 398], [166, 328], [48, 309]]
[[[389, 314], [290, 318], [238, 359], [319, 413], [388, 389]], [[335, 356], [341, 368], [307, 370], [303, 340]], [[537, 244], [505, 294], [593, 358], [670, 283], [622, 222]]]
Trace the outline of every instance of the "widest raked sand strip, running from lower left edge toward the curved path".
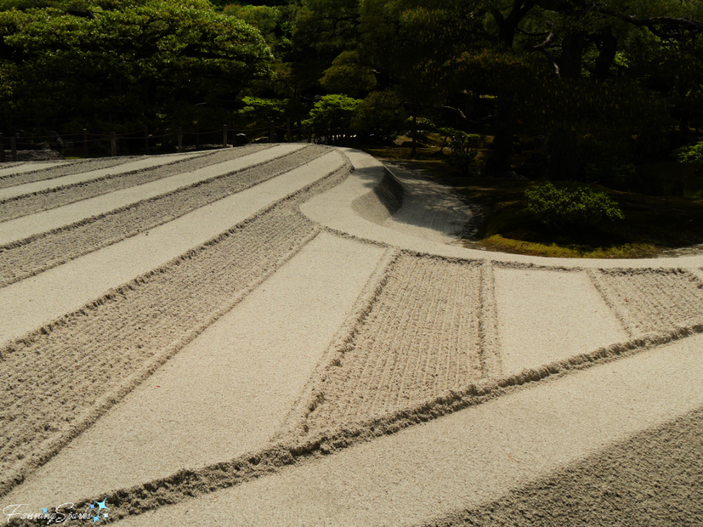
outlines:
[[318, 232], [296, 205], [341, 168], [216, 239], [2, 349], [0, 495], [91, 425]]

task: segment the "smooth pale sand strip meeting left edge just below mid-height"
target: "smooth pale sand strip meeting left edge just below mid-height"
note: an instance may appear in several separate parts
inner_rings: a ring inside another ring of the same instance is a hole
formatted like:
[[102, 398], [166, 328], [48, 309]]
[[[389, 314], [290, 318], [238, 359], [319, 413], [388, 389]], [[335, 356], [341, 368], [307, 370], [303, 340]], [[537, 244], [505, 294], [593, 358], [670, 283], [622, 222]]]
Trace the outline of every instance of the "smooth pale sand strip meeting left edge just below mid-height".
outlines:
[[[269, 149], [265, 152], [275, 151]], [[337, 152], [144, 234], [0, 289], [0, 342], [18, 338], [154, 269], [344, 164]]]

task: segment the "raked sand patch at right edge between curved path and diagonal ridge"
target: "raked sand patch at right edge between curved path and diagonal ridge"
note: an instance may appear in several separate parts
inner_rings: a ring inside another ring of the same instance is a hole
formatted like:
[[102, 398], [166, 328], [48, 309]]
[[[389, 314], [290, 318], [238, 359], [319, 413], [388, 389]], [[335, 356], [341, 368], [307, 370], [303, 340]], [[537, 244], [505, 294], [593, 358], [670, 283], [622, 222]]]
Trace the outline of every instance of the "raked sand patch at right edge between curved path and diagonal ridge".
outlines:
[[703, 281], [683, 269], [601, 269], [598, 290], [633, 337], [703, 321]]

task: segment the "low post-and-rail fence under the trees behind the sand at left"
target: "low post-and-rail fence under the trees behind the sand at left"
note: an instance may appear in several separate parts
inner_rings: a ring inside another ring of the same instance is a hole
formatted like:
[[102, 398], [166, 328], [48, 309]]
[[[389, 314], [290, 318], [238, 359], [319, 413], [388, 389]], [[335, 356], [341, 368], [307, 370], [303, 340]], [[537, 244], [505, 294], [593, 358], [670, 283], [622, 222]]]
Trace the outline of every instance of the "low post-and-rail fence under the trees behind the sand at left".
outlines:
[[[50, 133], [49, 135], [32, 135], [15, 132], [8, 138], [0, 133], [0, 162], [6, 161], [6, 148], [9, 147], [9, 156], [12, 161], [18, 161], [19, 152], [22, 150], [39, 150], [40, 146], [48, 145], [50, 149], [60, 150], [63, 154], [69, 152], [81, 152], [83, 157], [90, 157], [91, 154], [108, 154], [117, 156], [118, 151], [126, 150], [127, 154], [144, 153], [161, 148], [163, 151], [176, 149], [183, 152], [186, 147], [195, 147], [196, 150], [202, 147], [212, 147], [217, 145], [220, 148], [236, 147], [250, 142], [250, 140], [260, 138], [263, 131], [268, 131], [268, 142], [292, 142], [295, 135], [298, 140], [307, 139], [311, 142], [311, 133], [307, 128], [292, 128], [290, 119], [283, 124], [276, 125], [269, 121], [269, 126], [265, 128], [241, 128], [236, 123], [233, 126], [223, 124], [221, 128], [200, 131], [198, 124], [192, 125], [187, 131], [181, 126], [179, 128], [167, 128], [165, 130], [155, 130], [149, 133], [148, 127], [129, 133], [89, 133], [87, 128], [82, 132], [72, 133]], [[184, 141], [185, 139], [185, 141]], [[166, 147], [164, 143], [169, 143]]]

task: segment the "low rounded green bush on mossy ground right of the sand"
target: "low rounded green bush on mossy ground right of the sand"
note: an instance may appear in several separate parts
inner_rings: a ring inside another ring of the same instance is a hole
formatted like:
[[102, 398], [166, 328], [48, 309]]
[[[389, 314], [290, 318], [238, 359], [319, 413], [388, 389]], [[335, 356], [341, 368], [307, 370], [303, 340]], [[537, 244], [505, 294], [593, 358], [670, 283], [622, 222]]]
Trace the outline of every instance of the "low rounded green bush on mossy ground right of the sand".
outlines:
[[617, 202], [588, 185], [544, 183], [527, 189], [525, 197], [527, 209], [556, 229], [583, 229], [624, 219]]

